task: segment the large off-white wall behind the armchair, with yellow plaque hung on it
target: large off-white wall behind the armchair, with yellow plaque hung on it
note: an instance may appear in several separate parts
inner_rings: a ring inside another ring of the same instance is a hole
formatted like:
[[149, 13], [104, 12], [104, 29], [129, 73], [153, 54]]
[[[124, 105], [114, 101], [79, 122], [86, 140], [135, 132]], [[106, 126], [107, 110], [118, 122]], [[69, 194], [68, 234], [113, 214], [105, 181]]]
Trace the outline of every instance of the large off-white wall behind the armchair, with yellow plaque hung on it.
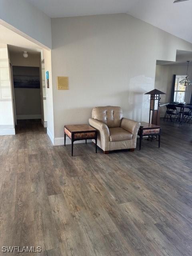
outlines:
[[[52, 19], [54, 137], [65, 124], [88, 123], [94, 106], [122, 106], [124, 116], [148, 121], [156, 60], [175, 61], [192, 44], [128, 14]], [[69, 76], [69, 90], [56, 77]]]

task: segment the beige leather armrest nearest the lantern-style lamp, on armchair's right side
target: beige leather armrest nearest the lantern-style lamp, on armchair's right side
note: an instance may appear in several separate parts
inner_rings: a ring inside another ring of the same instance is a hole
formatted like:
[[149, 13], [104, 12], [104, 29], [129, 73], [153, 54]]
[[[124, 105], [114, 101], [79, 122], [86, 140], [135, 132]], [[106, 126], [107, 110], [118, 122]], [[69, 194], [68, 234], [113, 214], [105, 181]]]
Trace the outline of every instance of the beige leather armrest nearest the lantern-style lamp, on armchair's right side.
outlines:
[[122, 118], [121, 120], [121, 128], [127, 130], [128, 132], [133, 134], [133, 140], [137, 139], [138, 130], [140, 128], [141, 123], [136, 122], [134, 120], [128, 118]]

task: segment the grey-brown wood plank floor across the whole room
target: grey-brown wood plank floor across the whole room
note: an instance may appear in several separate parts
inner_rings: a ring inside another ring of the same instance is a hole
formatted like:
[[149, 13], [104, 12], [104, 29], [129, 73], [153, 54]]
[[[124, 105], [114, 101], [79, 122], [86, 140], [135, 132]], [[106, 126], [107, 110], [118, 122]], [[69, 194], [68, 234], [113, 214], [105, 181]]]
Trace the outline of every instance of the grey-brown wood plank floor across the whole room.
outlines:
[[73, 158], [38, 121], [16, 132], [0, 136], [0, 251], [192, 255], [192, 126], [164, 125], [160, 149], [144, 140], [141, 151], [104, 155], [75, 144]]

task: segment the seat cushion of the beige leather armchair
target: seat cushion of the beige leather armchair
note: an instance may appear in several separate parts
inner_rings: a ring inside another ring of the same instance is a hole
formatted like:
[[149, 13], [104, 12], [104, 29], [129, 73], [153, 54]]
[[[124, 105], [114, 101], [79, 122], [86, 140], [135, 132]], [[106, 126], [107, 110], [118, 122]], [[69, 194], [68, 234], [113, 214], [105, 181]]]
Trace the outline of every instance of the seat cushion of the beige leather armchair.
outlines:
[[133, 134], [120, 127], [109, 128], [110, 141], [131, 140]]

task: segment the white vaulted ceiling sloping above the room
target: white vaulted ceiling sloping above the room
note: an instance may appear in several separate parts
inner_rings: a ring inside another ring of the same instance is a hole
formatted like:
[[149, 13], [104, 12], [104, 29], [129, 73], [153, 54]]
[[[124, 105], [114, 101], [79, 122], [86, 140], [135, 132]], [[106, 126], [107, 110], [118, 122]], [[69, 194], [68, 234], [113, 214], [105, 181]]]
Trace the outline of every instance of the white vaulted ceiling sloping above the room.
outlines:
[[128, 13], [192, 43], [192, 0], [26, 0], [51, 18]]

